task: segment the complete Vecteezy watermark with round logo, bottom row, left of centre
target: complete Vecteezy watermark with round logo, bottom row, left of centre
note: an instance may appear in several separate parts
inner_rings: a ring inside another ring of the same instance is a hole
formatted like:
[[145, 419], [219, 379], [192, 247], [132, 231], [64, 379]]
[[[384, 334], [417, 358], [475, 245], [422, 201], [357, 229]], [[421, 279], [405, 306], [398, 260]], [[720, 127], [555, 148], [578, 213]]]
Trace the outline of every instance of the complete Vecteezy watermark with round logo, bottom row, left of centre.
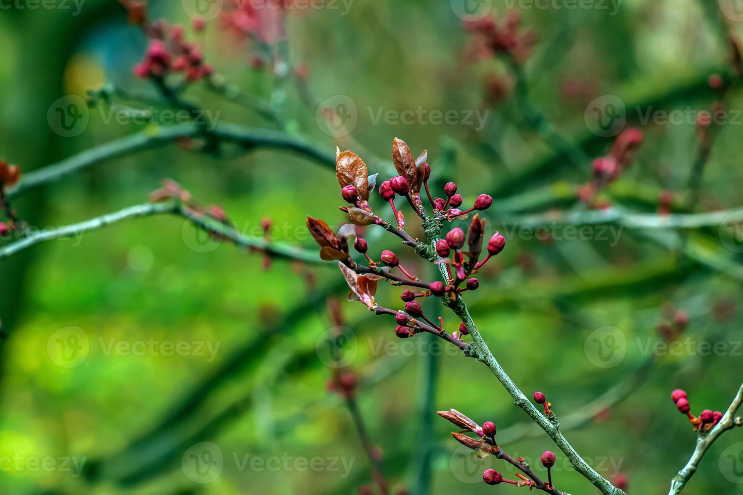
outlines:
[[199, 484], [215, 482], [227, 463], [239, 473], [251, 471], [259, 473], [337, 473], [340, 478], [351, 474], [356, 457], [351, 456], [294, 456], [285, 452], [281, 455], [260, 456], [250, 452], [231, 452], [224, 455], [214, 442], [201, 442], [192, 445], [181, 458], [181, 468], [186, 478]]

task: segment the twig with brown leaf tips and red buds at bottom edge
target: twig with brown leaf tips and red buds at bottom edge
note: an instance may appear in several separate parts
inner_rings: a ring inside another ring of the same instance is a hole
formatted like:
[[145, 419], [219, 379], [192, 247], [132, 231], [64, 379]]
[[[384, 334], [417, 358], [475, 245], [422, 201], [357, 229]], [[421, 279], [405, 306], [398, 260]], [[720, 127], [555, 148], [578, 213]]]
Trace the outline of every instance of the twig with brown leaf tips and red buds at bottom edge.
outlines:
[[[502, 459], [510, 465], [513, 465], [521, 473], [516, 473], [518, 479], [506, 479], [501, 473], [494, 469], [487, 469], [482, 473], [482, 480], [488, 485], [500, 485], [506, 483], [508, 485], [515, 485], [519, 487], [528, 487], [529, 490], [545, 491], [552, 495], [562, 495], [561, 491], [557, 491], [552, 483], [552, 468], [557, 462], [557, 457], [550, 450], [545, 450], [540, 456], [542, 466], [547, 470], [547, 480], [542, 481], [539, 476], [534, 473], [531, 466], [522, 457], [513, 459], [512, 456], [508, 455], [496, 442], [496, 425], [493, 422], [484, 422], [482, 426], [468, 418], [458, 410], [450, 409], [448, 411], [438, 411], [438, 416], [446, 419], [448, 422], [455, 424], [461, 428], [460, 431], [452, 432], [452, 436], [461, 445], [472, 450], [477, 450], [481, 456], [492, 455], [496, 456], [497, 459]], [[470, 434], [475, 434], [478, 438], [473, 438]]]

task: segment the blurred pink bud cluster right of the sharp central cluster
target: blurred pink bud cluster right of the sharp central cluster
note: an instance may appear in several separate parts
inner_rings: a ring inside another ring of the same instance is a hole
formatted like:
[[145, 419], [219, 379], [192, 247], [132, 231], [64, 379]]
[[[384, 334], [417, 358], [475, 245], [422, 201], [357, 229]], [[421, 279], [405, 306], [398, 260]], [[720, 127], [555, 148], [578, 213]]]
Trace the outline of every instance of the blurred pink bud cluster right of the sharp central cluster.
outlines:
[[643, 132], [638, 128], [628, 128], [620, 132], [606, 157], [594, 160], [591, 181], [578, 190], [578, 197], [588, 206], [603, 208], [596, 203], [598, 191], [613, 183], [632, 164], [637, 148], [643, 142]]

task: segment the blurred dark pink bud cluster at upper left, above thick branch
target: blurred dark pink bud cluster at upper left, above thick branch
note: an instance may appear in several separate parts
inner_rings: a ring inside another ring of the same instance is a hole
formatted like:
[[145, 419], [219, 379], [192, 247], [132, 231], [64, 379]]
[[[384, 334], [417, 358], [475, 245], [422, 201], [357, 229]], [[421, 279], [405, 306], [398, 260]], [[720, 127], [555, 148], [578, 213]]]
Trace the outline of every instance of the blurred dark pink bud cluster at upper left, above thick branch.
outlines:
[[168, 26], [159, 20], [148, 30], [151, 39], [144, 60], [134, 67], [141, 79], [165, 79], [171, 73], [182, 73], [188, 82], [212, 76], [213, 68], [204, 64], [201, 50], [184, 39], [180, 24]]

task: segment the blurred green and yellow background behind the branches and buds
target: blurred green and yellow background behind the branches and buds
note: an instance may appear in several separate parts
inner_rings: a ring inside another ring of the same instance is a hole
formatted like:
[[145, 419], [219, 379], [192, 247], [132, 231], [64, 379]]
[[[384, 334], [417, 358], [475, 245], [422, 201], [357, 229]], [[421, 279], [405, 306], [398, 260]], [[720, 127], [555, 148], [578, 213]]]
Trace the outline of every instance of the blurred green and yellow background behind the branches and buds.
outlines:
[[[521, 10], [522, 27], [536, 33], [525, 63], [530, 104], [589, 158], [606, 154], [611, 138], [588, 129], [588, 102], [613, 94], [630, 110], [712, 108], [716, 96], [707, 87], [708, 76], [731, 71], [720, 19], [730, 21], [733, 33], [743, 31], [735, 19], [721, 16], [725, 1], [624, 0], [614, 14], [616, 2], [606, 2], [606, 9], [597, 7], [599, 2], [577, 9], [528, 2], [509, 9], [511, 3], [493, 1], [491, 14], [503, 19], [510, 10]], [[143, 131], [143, 125], [106, 123], [97, 108], [90, 109], [88, 128], [77, 137], [59, 136], [47, 120], [56, 99], [85, 96], [105, 83], [156, 95], [154, 86], [132, 76], [147, 42], [127, 23], [123, 7], [114, 0], [86, 0], [77, 15], [74, 4], [71, 10], [60, 4], [19, 7], [29, 4], [16, 1], [0, 13], [0, 158], [27, 172]], [[380, 177], [389, 177], [393, 137], [406, 140], [415, 154], [427, 148], [433, 174], [448, 168], [442, 178], [456, 180], [465, 205], [481, 192], [493, 195], [488, 229], [548, 209], [580, 211], [574, 188], [588, 180], [589, 162], [576, 167], [541, 140], [524, 118], [520, 99], [484, 102], [488, 76], [509, 72], [502, 60], [473, 62], [464, 56], [470, 36], [457, 6], [456, 1], [355, 0], [347, 11], [340, 3], [289, 10], [288, 61], [293, 68], [309, 68], [310, 96], [302, 98], [296, 85], [287, 85], [282, 131], [328, 154], [336, 145], [350, 147], [372, 173], [382, 171]], [[275, 77], [270, 68], [251, 68], [254, 45], [234, 39], [218, 20], [196, 36], [178, 2], [151, 1], [149, 16], [183, 23], [186, 37], [198, 40], [220, 77], [244, 94], [270, 101]], [[566, 85], [583, 89], [568, 94]], [[337, 95], [357, 106], [350, 136], [328, 135], [317, 119], [319, 102]], [[733, 85], [726, 100], [731, 115], [742, 108], [741, 96]], [[220, 111], [218, 122], [276, 127], [207, 91], [204, 83], [188, 88], [184, 99]], [[476, 129], [463, 122], [374, 122], [369, 111], [419, 107], [490, 114], [487, 125]], [[695, 125], [641, 125], [629, 114], [645, 143], [606, 199], [654, 213], [658, 195], [669, 190], [678, 203], [675, 211], [683, 211], [698, 153]], [[719, 132], [697, 212], [740, 206], [743, 119], [737, 122]], [[13, 206], [31, 226], [65, 225], [144, 203], [169, 177], [201, 203], [224, 208], [241, 232], [255, 235], [260, 220], [270, 218], [276, 226], [272, 240], [317, 249], [305, 217], [343, 222], [331, 165], [280, 150], [230, 149], [218, 157], [166, 145], [35, 189]], [[383, 208], [378, 197], [374, 201]], [[420, 235], [417, 219], [409, 214], [408, 221]], [[482, 273], [480, 289], [467, 298], [503, 367], [527, 395], [545, 392], [559, 417], [590, 411], [586, 404], [629, 380], [632, 393], [596, 416], [588, 414], [580, 428], [566, 427], [565, 435], [603, 476], [626, 473], [633, 494], [666, 493], [694, 448], [692, 427], [669, 401], [671, 390], [687, 390], [693, 411], [724, 410], [743, 374], [739, 253], [724, 247], [716, 226], [658, 235], [672, 247], [631, 229], [616, 246], [604, 240], [508, 237], [498, 262]], [[370, 237], [370, 245], [378, 256], [398, 244]], [[690, 245], [713, 261], [685, 255]], [[410, 255], [404, 256], [405, 265], [426, 274], [429, 267]], [[9, 338], [1, 355], [0, 492], [345, 494], [369, 485], [369, 461], [342, 400], [326, 390], [332, 369], [316, 351], [334, 325], [326, 300], [345, 299], [340, 274], [333, 267], [282, 260], [264, 269], [261, 258], [227, 242], [205, 242], [181, 218], [162, 216], [45, 243], [2, 260], [0, 318]], [[315, 278], [311, 286], [309, 272]], [[380, 303], [397, 307], [398, 289], [379, 292]], [[661, 340], [656, 327], [669, 304], [690, 315], [684, 339], [692, 342], [692, 352], [652, 358], [645, 346]], [[432, 359], [421, 347], [408, 352], [409, 341], [400, 349], [390, 319], [371, 317], [360, 304], [341, 307], [355, 335], [349, 369], [365, 384], [360, 409], [392, 485], [432, 494], [516, 490], [484, 485], [485, 468], [513, 473], [490, 459], [463, 459], [450, 425], [434, 415], [454, 407], [477, 422], [496, 422], [499, 430], [525, 422], [490, 372], [453, 353]], [[431, 311], [452, 330], [458, 324], [444, 308]], [[586, 344], [591, 332], [603, 327], [617, 327], [626, 338], [626, 354], [611, 367], [596, 366]], [[76, 366], [59, 366], [49, 346], [55, 335], [68, 338], [70, 332], [84, 335], [89, 347]], [[191, 350], [201, 343], [206, 355], [107, 352], [112, 342], [150, 340], [184, 341]], [[386, 341], [396, 346], [387, 348], [393, 352], [379, 350]], [[693, 352], [699, 342], [722, 342], [727, 350], [702, 356]], [[638, 373], [643, 363], [651, 367]], [[533, 438], [504, 438], [501, 445], [526, 459], [557, 450], [532, 428], [526, 425]], [[201, 442], [212, 442], [207, 450], [223, 456], [221, 475], [213, 480], [189, 471], [190, 455], [204, 450]], [[743, 444], [735, 450], [736, 442], [743, 438], [733, 431], [713, 445], [685, 493], [739, 493], [743, 476], [729, 465], [743, 452]], [[302, 470], [290, 461], [289, 468], [250, 468], [243, 463], [246, 456], [264, 462], [319, 457], [324, 467]], [[47, 459], [47, 468], [34, 468], [33, 459]], [[328, 459], [337, 459], [337, 469]], [[597, 493], [562, 454], [558, 468], [554, 479], [561, 490]]]

